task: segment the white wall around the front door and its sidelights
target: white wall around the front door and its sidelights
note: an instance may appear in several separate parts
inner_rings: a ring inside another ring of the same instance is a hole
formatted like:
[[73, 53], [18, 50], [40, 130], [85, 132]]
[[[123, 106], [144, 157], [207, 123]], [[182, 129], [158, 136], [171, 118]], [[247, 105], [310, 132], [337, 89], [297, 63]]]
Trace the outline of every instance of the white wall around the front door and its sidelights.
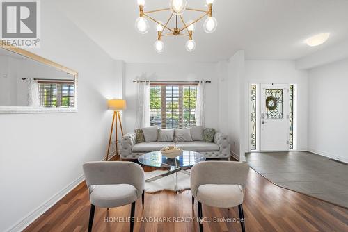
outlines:
[[[308, 147], [308, 72], [297, 70], [294, 61], [246, 60], [246, 88], [251, 83], [289, 83], [297, 88], [297, 134], [296, 149], [306, 151]], [[246, 91], [246, 99], [248, 99]], [[249, 117], [248, 108], [245, 118]], [[248, 125], [246, 124], [248, 129]], [[249, 133], [246, 133], [245, 149], [248, 150]]]

